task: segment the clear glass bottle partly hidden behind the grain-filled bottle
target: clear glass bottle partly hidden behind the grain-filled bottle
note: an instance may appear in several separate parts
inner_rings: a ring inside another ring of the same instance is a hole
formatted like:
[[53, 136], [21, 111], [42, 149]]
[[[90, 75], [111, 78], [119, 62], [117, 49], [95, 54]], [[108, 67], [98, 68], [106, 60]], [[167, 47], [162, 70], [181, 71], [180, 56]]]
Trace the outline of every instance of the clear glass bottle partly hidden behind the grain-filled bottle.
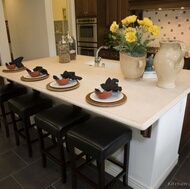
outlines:
[[67, 32], [66, 42], [69, 44], [70, 49], [70, 59], [76, 60], [76, 41], [73, 36], [70, 35], [70, 32]]

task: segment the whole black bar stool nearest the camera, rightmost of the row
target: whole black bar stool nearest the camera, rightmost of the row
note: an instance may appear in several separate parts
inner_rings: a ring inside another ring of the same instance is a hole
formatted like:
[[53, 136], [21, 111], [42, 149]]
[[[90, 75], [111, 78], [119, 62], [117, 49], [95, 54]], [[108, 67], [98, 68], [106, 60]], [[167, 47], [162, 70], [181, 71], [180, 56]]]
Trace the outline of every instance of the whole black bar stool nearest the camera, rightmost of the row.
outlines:
[[[71, 158], [72, 188], [77, 188], [77, 176], [96, 189], [110, 188], [114, 182], [123, 177], [123, 184], [128, 184], [129, 148], [132, 131], [125, 125], [116, 121], [95, 117], [79, 124], [67, 133], [69, 153]], [[78, 148], [91, 157], [90, 161], [79, 166], [76, 165], [74, 149]], [[118, 149], [124, 147], [123, 164], [111, 159], [110, 156]], [[105, 185], [105, 160], [120, 166], [122, 171], [108, 184]], [[98, 183], [92, 181], [82, 173], [82, 168], [96, 160], [98, 171]]]

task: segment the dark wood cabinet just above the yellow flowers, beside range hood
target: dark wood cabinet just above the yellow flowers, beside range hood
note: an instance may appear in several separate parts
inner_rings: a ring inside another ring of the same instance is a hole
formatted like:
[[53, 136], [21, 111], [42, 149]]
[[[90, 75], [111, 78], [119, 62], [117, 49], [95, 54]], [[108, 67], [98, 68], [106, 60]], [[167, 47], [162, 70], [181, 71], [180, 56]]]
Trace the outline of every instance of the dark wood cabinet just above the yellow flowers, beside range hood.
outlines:
[[113, 21], [120, 23], [129, 15], [128, 0], [106, 0], [106, 26], [110, 27]]

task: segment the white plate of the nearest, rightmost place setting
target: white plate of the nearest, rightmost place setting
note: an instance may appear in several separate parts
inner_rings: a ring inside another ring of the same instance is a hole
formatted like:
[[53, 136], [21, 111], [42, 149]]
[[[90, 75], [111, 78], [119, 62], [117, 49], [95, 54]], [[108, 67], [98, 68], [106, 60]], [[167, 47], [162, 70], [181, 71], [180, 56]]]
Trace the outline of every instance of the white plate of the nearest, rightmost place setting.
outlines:
[[98, 96], [93, 92], [90, 95], [90, 98], [96, 102], [117, 102], [123, 98], [123, 93], [121, 92], [113, 92], [112, 95], [106, 99], [100, 99]]

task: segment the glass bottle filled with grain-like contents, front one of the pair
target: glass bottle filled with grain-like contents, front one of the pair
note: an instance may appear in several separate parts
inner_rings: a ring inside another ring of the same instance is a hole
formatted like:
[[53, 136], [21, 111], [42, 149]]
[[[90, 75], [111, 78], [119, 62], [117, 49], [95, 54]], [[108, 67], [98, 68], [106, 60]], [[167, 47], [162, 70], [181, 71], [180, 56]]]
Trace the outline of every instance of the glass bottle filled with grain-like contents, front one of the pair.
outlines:
[[58, 45], [58, 55], [60, 63], [70, 62], [70, 48], [69, 44], [65, 41], [64, 36], [62, 36], [62, 41]]

